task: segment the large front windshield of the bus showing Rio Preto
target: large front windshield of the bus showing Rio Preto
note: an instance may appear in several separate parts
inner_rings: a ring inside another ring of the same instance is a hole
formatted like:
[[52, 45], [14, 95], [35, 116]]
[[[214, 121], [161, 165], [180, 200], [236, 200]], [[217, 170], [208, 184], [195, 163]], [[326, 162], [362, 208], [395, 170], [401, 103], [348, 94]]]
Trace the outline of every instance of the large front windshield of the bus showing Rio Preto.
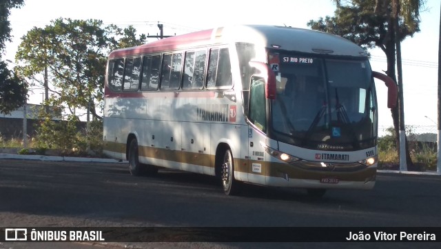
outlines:
[[276, 139], [312, 149], [374, 146], [376, 97], [367, 59], [275, 56], [279, 67], [271, 127]]

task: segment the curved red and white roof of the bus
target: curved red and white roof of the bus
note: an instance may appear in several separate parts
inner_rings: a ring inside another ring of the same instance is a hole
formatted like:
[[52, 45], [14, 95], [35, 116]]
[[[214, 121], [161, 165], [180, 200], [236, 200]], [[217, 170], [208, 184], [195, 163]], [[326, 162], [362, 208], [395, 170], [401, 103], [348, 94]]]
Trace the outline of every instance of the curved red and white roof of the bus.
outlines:
[[365, 50], [334, 34], [282, 26], [229, 26], [181, 34], [132, 48], [114, 50], [110, 59], [220, 43], [254, 43], [265, 48], [360, 57]]

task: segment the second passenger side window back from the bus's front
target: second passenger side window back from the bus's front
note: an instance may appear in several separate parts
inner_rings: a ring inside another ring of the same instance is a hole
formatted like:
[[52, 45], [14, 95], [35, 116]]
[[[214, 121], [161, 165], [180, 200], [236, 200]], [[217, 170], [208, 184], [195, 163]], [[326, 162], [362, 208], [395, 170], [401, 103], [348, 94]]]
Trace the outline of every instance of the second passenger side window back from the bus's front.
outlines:
[[202, 89], [207, 52], [186, 52], [183, 75], [183, 89]]

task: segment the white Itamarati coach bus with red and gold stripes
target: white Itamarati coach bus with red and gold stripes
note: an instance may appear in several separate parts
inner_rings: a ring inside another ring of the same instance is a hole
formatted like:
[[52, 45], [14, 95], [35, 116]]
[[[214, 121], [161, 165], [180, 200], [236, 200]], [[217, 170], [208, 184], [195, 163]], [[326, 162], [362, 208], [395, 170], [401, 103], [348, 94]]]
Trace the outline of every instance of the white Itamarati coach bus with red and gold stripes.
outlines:
[[110, 53], [104, 152], [132, 175], [170, 168], [243, 183], [371, 189], [378, 162], [374, 78], [362, 48], [300, 28], [230, 26]]

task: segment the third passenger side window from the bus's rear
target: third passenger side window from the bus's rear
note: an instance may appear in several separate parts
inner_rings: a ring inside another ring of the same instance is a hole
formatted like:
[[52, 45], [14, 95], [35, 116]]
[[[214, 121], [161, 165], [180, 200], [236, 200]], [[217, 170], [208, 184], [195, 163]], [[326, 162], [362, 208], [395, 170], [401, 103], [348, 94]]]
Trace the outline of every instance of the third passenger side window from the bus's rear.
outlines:
[[160, 65], [161, 55], [145, 56], [143, 58], [143, 79], [141, 82], [141, 90], [158, 90]]

